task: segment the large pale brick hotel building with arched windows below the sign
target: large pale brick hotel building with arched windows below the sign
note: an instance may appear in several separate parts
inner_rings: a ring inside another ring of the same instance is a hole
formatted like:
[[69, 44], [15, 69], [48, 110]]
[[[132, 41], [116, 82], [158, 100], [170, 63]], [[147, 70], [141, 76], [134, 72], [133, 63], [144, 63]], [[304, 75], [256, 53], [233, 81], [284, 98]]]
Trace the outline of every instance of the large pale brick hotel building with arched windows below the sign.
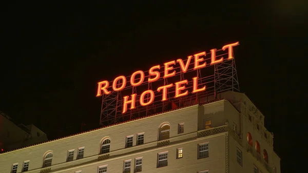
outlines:
[[243, 93], [0, 154], [0, 172], [280, 172], [273, 134]]

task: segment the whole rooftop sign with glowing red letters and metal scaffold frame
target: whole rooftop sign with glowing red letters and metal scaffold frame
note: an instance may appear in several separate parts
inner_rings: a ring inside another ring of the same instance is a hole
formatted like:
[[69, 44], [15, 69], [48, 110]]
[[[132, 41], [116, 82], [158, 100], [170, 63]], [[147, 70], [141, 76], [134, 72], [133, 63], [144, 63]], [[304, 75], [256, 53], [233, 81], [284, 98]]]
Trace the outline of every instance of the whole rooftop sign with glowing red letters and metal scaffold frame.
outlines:
[[[138, 70], [130, 76], [98, 83], [102, 97], [101, 125], [110, 125], [198, 103], [200, 97], [226, 90], [239, 91], [233, 48], [211, 49]], [[212, 67], [212, 68], [210, 68]], [[213, 70], [214, 67], [214, 70]], [[189, 103], [190, 102], [190, 103]]]

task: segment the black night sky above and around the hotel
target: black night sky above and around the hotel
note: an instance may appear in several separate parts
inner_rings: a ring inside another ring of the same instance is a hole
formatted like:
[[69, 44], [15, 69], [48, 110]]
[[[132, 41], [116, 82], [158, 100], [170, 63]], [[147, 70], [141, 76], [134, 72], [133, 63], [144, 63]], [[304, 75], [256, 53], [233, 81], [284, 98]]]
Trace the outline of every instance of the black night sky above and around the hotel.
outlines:
[[91, 128], [100, 120], [97, 82], [239, 41], [241, 92], [274, 132], [282, 172], [294, 171], [306, 129], [307, 3], [206, 2], [3, 6], [0, 110], [49, 139]]

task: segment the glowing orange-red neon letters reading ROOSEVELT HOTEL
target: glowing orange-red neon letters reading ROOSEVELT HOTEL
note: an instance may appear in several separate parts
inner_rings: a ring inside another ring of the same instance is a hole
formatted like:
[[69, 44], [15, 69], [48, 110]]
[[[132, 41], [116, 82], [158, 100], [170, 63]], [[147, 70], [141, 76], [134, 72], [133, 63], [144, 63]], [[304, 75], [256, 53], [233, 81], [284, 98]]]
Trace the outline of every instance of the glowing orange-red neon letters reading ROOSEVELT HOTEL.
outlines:
[[[176, 73], [186, 73], [188, 70], [200, 70], [210, 65], [222, 63], [224, 60], [232, 60], [233, 56], [233, 47], [239, 45], [239, 42], [228, 44], [222, 47], [222, 51], [226, 49], [228, 52], [227, 56], [220, 56], [217, 58], [216, 51], [217, 49], [210, 50], [210, 62], [205, 61], [206, 52], [200, 52], [194, 55], [187, 56], [186, 60], [178, 59], [170, 62], [164, 63], [163, 66], [156, 65], [149, 68], [146, 73], [142, 70], [133, 72], [129, 78], [124, 75], [120, 75], [115, 78], [113, 81], [102, 81], [98, 83], [97, 97], [103, 95], [108, 95], [111, 92], [120, 92], [125, 88], [129, 87], [138, 87], [144, 83], [154, 83], [160, 79], [168, 79], [172, 76], [175, 76]], [[179, 67], [179, 71], [176, 70], [176, 67]], [[163, 86], [157, 87], [156, 90], [148, 89], [143, 91], [140, 95], [137, 93], [132, 93], [123, 97], [122, 102], [122, 113], [127, 112], [127, 109], [135, 109], [136, 104], [138, 103], [141, 106], [148, 106], [154, 102], [156, 97], [160, 97], [162, 102], [167, 101], [168, 90], [174, 89], [174, 95], [171, 97], [181, 98], [188, 93], [198, 93], [206, 90], [206, 86], [201, 86], [198, 83], [198, 76], [194, 76], [189, 79], [183, 79], [176, 81], [174, 83], [166, 84]], [[186, 87], [188, 83], [192, 83], [190, 90]], [[159, 94], [158, 94], [159, 93]], [[173, 93], [173, 92], [172, 92]], [[170, 96], [169, 96], [170, 97]]]

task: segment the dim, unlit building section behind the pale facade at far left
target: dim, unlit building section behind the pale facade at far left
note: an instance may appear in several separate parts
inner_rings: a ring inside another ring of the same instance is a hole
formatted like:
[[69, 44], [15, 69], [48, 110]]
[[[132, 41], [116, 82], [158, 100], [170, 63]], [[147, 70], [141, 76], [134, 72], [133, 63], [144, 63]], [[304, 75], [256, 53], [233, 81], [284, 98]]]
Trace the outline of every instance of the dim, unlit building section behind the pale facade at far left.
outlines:
[[48, 141], [46, 133], [31, 125], [16, 125], [0, 111], [0, 153]]

